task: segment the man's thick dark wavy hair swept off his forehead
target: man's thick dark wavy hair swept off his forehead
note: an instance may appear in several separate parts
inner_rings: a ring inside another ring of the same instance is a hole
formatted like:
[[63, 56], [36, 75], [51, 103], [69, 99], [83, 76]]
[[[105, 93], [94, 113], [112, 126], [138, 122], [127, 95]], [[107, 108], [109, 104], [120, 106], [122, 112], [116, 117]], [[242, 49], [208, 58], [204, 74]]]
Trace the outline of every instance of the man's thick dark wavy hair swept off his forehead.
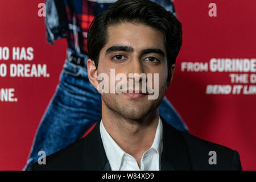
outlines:
[[88, 56], [96, 67], [100, 51], [108, 41], [107, 28], [125, 22], [141, 23], [162, 32], [169, 71], [182, 44], [181, 23], [170, 11], [148, 0], [118, 0], [94, 18], [88, 31]]

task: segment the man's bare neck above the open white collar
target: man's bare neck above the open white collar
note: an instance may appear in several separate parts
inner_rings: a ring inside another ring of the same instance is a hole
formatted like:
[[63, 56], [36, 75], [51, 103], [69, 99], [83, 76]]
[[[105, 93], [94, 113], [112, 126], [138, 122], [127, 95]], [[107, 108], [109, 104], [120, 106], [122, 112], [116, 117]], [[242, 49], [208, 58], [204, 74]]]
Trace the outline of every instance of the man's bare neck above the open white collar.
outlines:
[[139, 167], [142, 155], [154, 142], [158, 121], [158, 110], [150, 112], [142, 119], [134, 120], [102, 105], [102, 122], [106, 131], [123, 151], [137, 160]]

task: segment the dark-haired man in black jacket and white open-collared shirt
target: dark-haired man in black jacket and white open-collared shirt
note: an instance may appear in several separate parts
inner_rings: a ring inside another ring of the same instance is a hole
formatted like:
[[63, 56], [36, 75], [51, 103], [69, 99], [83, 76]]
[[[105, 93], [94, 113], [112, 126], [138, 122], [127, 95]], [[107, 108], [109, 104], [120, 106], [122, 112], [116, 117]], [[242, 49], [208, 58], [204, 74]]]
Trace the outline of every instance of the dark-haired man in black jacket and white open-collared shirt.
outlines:
[[[101, 92], [102, 119], [85, 138], [47, 156], [46, 165], [35, 163], [28, 169], [241, 170], [237, 151], [176, 130], [159, 115], [181, 34], [181, 23], [172, 13], [146, 0], [119, 0], [96, 16], [88, 32], [87, 68], [91, 84]], [[147, 77], [138, 77], [142, 73]], [[118, 74], [126, 76], [122, 83], [139, 83], [142, 89], [146, 82], [146, 93], [137, 93], [136, 86], [118, 86]], [[148, 99], [155, 92], [158, 97]], [[217, 162], [210, 162], [209, 152], [217, 155]]]

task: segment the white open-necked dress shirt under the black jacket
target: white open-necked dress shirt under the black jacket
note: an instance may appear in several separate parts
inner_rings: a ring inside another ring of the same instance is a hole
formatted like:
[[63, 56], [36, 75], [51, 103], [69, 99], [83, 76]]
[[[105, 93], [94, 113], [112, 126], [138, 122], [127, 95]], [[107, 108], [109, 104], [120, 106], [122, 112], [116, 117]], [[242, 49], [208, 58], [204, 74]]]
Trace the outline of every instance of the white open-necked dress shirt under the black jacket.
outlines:
[[106, 156], [109, 160], [110, 167], [113, 171], [159, 171], [160, 157], [162, 154], [163, 124], [159, 118], [158, 127], [156, 128], [154, 142], [149, 150], [144, 152], [141, 158], [141, 169], [137, 161], [122, 150], [117, 143], [110, 137], [106, 131], [102, 119], [100, 123], [100, 134]]

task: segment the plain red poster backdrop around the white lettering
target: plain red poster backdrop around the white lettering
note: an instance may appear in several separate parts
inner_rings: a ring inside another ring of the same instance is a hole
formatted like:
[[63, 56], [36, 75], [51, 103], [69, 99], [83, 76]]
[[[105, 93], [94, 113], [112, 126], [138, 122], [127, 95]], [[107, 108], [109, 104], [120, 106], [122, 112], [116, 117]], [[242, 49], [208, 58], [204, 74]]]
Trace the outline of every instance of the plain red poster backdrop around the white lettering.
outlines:
[[[9, 89], [14, 94], [8, 101], [1, 100], [0, 94], [1, 170], [20, 170], [26, 164], [36, 129], [55, 92], [65, 60], [64, 39], [57, 40], [55, 46], [46, 42], [44, 18], [38, 16], [40, 2], [44, 1], [0, 3], [0, 90]], [[208, 5], [212, 2], [217, 5], [216, 17], [208, 15]], [[175, 1], [175, 7], [183, 23], [183, 46], [166, 95], [192, 134], [236, 149], [243, 169], [255, 170], [255, 93], [206, 93], [207, 85], [255, 86], [255, 83], [250, 79], [248, 83], [233, 83], [229, 74], [234, 72], [182, 71], [181, 63], [200, 62], [209, 66], [212, 58], [255, 59], [256, 1]], [[13, 60], [13, 47], [32, 47], [34, 58]], [[1, 68], [1, 64], [5, 65]], [[49, 77], [10, 77], [10, 64], [46, 64]], [[249, 77], [256, 74], [236, 73]]]

